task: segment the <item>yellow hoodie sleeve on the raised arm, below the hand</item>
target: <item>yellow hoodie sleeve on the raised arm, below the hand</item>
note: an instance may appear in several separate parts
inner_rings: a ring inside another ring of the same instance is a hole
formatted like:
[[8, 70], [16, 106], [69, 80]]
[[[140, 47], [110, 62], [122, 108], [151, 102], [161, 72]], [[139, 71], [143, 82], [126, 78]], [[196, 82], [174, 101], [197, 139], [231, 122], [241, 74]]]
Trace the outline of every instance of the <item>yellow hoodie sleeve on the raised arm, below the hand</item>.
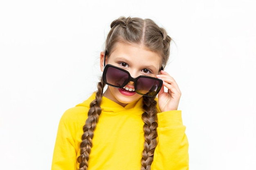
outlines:
[[189, 170], [189, 143], [181, 111], [157, 114], [158, 144], [151, 170]]

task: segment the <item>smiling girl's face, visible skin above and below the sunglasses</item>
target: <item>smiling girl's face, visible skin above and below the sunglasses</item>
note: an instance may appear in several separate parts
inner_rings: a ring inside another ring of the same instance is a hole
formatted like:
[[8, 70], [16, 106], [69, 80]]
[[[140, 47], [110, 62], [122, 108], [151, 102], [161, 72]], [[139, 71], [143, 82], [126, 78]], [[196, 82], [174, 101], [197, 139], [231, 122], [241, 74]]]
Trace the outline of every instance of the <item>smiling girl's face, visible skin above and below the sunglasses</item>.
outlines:
[[[101, 52], [101, 71], [104, 69], [103, 59], [104, 52]], [[162, 59], [159, 54], [148, 50], [143, 45], [117, 42], [105, 62], [127, 70], [133, 78], [140, 75], [156, 77], [161, 68]], [[125, 88], [108, 86], [103, 96], [123, 107], [142, 97], [134, 91], [133, 81], [130, 81]]]

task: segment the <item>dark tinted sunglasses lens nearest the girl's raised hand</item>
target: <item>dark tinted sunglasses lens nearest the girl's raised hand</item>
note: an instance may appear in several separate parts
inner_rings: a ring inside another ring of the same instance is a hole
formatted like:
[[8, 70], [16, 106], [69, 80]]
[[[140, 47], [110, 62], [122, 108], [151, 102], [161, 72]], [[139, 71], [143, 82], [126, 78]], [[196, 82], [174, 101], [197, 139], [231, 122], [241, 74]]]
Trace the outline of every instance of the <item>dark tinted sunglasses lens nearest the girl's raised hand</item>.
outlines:
[[159, 87], [162, 86], [162, 82], [159, 79], [149, 78], [149, 77], [139, 77], [137, 79], [136, 91], [141, 94], [146, 94], [148, 96], [157, 95]]

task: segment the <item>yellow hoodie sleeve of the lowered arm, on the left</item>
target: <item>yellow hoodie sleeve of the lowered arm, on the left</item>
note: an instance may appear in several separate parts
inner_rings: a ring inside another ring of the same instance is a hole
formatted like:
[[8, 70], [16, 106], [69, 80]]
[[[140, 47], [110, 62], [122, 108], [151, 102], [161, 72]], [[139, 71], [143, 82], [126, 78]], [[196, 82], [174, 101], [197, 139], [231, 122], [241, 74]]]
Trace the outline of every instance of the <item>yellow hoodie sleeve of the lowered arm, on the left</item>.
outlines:
[[67, 110], [58, 125], [58, 132], [52, 158], [52, 170], [76, 170], [76, 125]]

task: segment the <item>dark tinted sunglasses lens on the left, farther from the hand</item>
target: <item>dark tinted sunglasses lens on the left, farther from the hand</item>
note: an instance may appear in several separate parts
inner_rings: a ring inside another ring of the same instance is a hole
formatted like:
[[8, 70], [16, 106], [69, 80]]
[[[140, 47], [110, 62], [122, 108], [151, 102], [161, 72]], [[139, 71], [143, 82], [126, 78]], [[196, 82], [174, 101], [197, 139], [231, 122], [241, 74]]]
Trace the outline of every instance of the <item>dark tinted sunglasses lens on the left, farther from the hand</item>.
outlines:
[[113, 67], [108, 67], [106, 72], [107, 83], [115, 87], [124, 87], [128, 77], [129, 75], [126, 72]]

